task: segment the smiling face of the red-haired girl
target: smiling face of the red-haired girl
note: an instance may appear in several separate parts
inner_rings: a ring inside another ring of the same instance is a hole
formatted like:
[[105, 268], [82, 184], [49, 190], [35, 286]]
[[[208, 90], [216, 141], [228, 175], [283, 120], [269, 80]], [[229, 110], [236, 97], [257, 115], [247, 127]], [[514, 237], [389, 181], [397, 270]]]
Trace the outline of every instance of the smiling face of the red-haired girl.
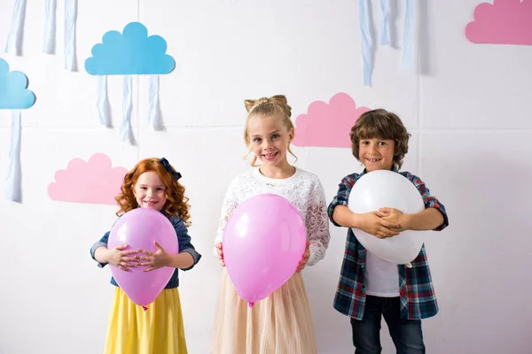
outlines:
[[159, 174], [154, 171], [148, 171], [138, 176], [133, 194], [141, 208], [154, 209], [159, 212], [167, 201], [166, 186], [160, 180]]

